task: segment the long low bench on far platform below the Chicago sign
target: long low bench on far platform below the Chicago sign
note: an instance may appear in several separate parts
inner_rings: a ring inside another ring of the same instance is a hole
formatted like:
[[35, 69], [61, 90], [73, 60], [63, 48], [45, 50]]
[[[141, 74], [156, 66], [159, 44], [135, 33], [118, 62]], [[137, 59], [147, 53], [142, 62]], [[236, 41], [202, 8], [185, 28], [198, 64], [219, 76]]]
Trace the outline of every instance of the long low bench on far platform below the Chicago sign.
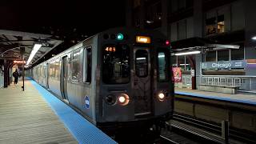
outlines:
[[238, 94], [239, 87], [240, 86], [216, 86], [201, 84], [198, 85], [198, 90], [219, 92], [225, 94]]

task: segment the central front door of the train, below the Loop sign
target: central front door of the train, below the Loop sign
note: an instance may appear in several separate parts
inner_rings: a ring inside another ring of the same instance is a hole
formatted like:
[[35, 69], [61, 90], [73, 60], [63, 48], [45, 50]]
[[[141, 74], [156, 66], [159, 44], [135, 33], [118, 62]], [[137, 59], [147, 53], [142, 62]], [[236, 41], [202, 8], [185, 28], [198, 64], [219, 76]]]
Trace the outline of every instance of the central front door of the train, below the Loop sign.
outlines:
[[150, 49], [134, 47], [134, 113], [151, 114]]

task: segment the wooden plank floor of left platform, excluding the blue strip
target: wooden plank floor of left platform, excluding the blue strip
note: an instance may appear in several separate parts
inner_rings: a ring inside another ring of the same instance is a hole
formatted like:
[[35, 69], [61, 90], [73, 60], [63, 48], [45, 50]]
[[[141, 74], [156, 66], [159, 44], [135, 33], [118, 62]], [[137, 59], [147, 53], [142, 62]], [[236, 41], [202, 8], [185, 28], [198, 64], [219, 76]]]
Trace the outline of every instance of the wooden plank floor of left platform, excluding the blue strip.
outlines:
[[29, 81], [0, 89], [0, 143], [78, 143]]

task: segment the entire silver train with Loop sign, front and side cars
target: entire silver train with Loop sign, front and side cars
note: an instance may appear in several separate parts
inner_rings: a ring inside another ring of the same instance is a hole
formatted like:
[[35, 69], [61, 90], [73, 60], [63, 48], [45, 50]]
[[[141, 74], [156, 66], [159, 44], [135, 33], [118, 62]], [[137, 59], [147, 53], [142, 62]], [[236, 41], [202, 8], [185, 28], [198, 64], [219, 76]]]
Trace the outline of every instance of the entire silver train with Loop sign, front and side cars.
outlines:
[[154, 124], [173, 113], [166, 39], [156, 31], [106, 30], [34, 66], [33, 78], [96, 126]]

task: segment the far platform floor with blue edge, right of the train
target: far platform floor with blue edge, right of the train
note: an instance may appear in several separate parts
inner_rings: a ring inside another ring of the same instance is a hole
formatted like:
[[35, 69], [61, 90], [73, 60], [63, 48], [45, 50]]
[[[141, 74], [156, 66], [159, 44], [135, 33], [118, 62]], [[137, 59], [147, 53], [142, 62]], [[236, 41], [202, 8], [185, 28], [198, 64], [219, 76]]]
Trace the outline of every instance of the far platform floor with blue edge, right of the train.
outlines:
[[211, 98], [229, 102], [239, 102], [256, 106], [256, 94], [238, 93], [238, 94], [223, 94], [214, 93], [202, 90], [190, 90], [175, 87], [175, 94], [185, 94], [194, 97]]

